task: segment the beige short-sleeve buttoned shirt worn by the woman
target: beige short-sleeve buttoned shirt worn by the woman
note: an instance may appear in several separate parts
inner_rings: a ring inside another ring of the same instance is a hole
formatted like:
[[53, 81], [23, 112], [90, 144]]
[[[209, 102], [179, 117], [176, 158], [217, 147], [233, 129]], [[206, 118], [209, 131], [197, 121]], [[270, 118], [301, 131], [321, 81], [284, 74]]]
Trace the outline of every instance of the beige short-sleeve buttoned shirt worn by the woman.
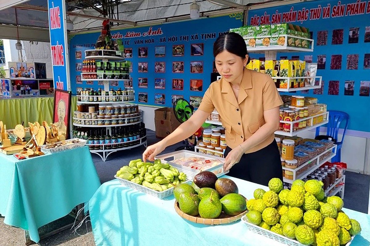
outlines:
[[[216, 109], [225, 127], [226, 143], [230, 148], [243, 143], [265, 124], [263, 111], [283, 104], [275, 83], [269, 75], [244, 69], [238, 99], [230, 83], [222, 78], [206, 90], [199, 110], [211, 113]], [[274, 134], [268, 136], [246, 153], [256, 152], [272, 143]]]

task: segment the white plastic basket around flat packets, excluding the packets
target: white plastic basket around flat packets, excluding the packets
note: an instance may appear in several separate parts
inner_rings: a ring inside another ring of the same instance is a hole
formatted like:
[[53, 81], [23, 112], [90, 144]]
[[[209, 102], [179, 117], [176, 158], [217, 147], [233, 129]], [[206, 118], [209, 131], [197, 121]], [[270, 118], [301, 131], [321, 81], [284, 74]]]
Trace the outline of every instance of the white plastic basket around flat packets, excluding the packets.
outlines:
[[203, 171], [211, 171], [214, 174], [216, 174], [217, 177], [220, 177], [220, 176], [229, 172], [229, 171], [226, 171], [226, 172], [223, 171], [223, 164], [225, 163], [225, 158], [209, 156], [209, 155], [205, 155], [203, 153], [197, 153], [197, 152], [189, 151], [189, 150], [179, 150], [179, 151], [171, 152], [171, 153], [168, 153], [168, 154], [159, 155], [159, 156], [154, 157], [154, 159], [161, 159], [162, 163], [168, 163], [168, 164], [170, 164], [171, 166], [174, 166], [177, 169], [181, 169], [182, 172], [186, 174], [188, 179], [193, 179], [196, 174], [201, 172], [200, 170], [192, 169], [190, 167], [182, 166], [180, 164], [172, 162], [173, 160], [180, 159], [180, 158], [183, 158], [183, 157], [185, 157], [185, 158], [186, 157], [205, 157], [209, 160], [219, 160], [219, 161], [221, 161], [221, 164], [219, 164], [217, 166], [214, 166], [214, 167], [211, 167], [209, 169], [203, 170]]

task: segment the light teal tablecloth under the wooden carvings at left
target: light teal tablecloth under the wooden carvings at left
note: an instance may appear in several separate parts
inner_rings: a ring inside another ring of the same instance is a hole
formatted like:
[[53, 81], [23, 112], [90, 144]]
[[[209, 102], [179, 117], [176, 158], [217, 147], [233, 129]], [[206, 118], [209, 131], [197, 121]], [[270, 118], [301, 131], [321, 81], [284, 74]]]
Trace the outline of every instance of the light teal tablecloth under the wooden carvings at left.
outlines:
[[34, 242], [37, 228], [88, 202], [99, 186], [87, 146], [26, 160], [0, 154], [0, 214]]

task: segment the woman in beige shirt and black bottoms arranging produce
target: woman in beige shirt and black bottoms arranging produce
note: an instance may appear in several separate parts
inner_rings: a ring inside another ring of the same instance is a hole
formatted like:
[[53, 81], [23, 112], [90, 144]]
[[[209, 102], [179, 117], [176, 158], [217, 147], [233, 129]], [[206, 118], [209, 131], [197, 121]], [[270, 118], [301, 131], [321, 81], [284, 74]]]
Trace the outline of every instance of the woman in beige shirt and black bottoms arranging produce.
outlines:
[[244, 39], [230, 32], [213, 45], [216, 68], [222, 78], [211, 83], [190, 119], [162, 141], [151, 145], [143, 159], [153, 160], [167, 146], [188, 138], [216, 108], [226, 131], [224, 170], [228, 175], [267, 186], [283, 179], [280, 153], [274, 138], [283, 103], [269, 75], [248, 70]]

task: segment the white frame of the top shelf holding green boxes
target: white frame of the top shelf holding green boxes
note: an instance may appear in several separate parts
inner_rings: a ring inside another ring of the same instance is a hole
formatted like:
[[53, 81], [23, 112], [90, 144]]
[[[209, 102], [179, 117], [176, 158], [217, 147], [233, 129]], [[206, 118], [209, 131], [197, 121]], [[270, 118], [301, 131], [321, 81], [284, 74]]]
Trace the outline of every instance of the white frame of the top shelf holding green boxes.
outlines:
[[[258, 37], [258, 38], [277, 38], [277, 37], [285, 37], [285, 42], [284, 45], [274, 45], [274, 46], [256, 46], [256, 47], [250, 47], [248, 46], [248, 52], [252, 53], [264, 53], [268, 51], [274, 51], [274, 52], [298, 52], [298, 51], [303, 51], [303, 52], [313, 52], [313, 39], [309, 38], [303, 38], [303, 37], [297, 37], [297, 36], [292, 36], [292, 35], [273, 35], [273, 36], [264, 36], [264, 37]], [[297, 39], [303, 39], [307, 40], [309, 42], [309, 46], [311, 48], [300, 48], [300, 47], [293, 47], [293, 46], [288, 46], [288, 38], [297, 38]], [[255, 39], [255, 37], [252, 37]], [[248, 44], [248, 40], [250, 38], [245, 38], [246, 44]]]

